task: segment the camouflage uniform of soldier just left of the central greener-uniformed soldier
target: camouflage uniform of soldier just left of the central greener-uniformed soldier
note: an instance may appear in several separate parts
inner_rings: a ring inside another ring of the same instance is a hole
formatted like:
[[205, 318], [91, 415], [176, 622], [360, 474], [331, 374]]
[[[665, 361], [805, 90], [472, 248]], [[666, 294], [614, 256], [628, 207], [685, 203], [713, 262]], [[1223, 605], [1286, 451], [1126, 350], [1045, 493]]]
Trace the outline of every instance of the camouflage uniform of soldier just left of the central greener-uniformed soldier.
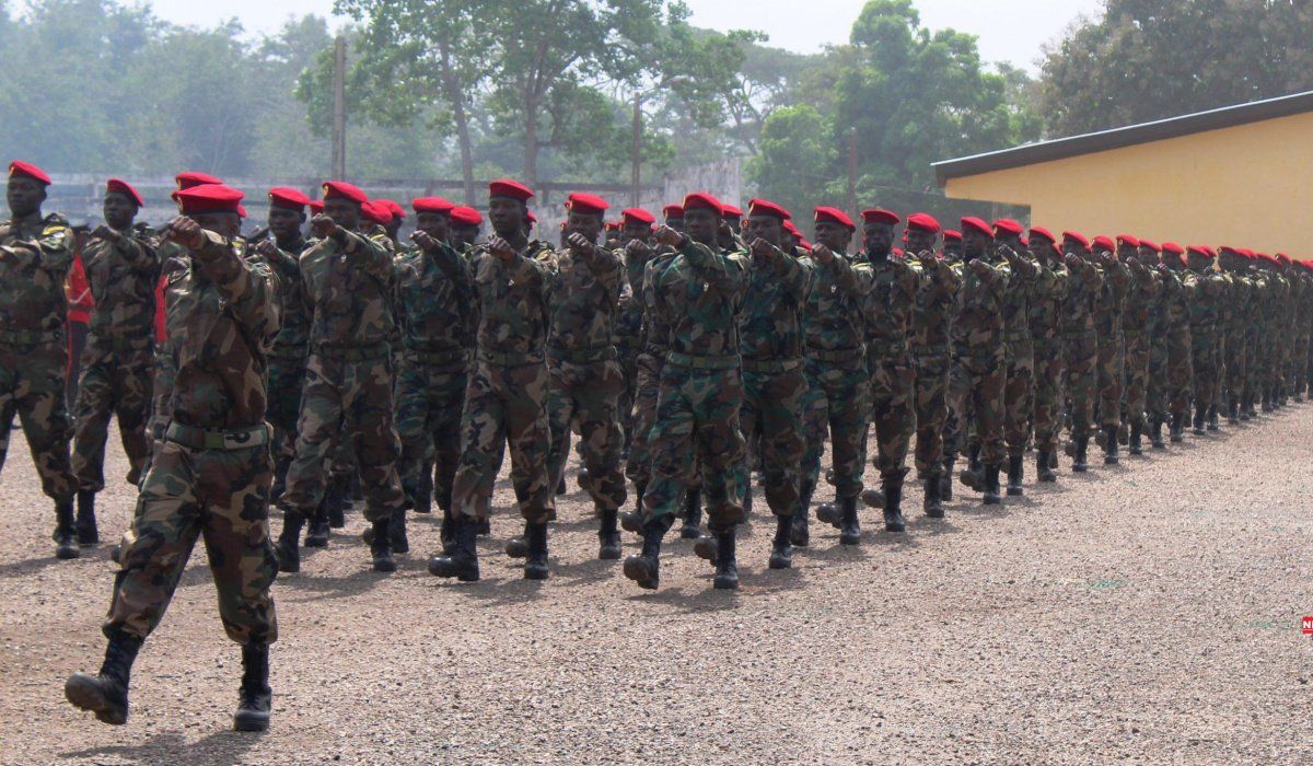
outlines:
[[614, 511], [625, 503], [625, 435], [617, 413], [625, 377], [613, 346], [624, 261], [604, 247], [590, 255], [566, 250], [557, 261], [548, 297], [548, 481], [553, 487], [561, 481], [570, 424], [578, 419], [588, 494], [597, 512]]

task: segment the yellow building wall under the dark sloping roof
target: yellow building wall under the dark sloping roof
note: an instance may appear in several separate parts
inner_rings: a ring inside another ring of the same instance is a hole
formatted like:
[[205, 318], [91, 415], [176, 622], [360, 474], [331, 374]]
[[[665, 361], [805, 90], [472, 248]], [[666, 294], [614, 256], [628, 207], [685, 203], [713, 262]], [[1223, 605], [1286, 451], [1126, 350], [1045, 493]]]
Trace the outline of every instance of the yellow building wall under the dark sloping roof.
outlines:
[[1031, 206], [1031, 222], [1313, 256], [1313, 113], [949, 179], [949, 197]]

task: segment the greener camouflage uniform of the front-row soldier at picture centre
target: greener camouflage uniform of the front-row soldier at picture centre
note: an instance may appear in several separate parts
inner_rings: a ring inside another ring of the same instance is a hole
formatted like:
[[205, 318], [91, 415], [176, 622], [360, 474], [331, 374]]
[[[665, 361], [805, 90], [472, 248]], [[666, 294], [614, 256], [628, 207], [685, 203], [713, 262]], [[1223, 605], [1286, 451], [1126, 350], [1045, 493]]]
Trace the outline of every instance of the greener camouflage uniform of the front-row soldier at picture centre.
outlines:
[[739, 405], [738, 314], [747, 264], [687, 240], [679, 254], [649, 267], [647, 298], [666, 330], [656, 422], [650, 435], [653, 481], [645, 523], [672, 516], [701, 468], [709, 527], [727, 532], [743, 522], [747, 489]]

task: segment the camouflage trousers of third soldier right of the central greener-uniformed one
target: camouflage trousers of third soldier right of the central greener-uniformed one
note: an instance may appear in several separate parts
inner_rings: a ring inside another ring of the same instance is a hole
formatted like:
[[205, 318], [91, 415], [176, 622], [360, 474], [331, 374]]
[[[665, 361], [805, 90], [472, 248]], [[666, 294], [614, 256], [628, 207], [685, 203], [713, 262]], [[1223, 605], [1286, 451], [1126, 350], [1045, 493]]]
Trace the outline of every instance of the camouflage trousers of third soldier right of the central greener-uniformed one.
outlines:
[[[868, 348], [871, 371], [871, 422], [876, 428], [876, 460], [881, 480], [907, 474], [907, 449], [916, 430], [913, 403], [916, 372], [906, 348], [881, 352]], [[869, 451], [868, 451], [869, 455]]]

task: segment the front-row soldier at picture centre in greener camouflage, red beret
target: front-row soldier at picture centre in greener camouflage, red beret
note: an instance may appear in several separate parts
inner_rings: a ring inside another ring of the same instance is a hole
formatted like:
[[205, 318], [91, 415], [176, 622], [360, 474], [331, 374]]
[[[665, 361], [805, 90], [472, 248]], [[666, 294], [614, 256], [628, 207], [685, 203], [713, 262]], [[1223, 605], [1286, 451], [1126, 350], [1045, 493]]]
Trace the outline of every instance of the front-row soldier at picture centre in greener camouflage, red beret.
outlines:
[[[653, 432], [653, 482], [643, 498], [643, 547], [625, 560], [625, 577], [639, 587], [659, 585], [660, 543], [675, 505], [702, 469], [708, 528], [717, 536], [714, 586], [738, 587], [734, 527], [744, 520], [747, 473], [739, 428], [743, 382], [738, 359], [738, 317], [743, 307], [747, 264], [723, 254], [717, 234], [729, 229], [720, 201], [706, 193], [684, 198], [685, 234], [668, 226], [656, 240], [679, 255], [650, 271], [649, 301], [667, 335], [660, 395]], [[723, 226], [722, 226], [723, 225]]]

